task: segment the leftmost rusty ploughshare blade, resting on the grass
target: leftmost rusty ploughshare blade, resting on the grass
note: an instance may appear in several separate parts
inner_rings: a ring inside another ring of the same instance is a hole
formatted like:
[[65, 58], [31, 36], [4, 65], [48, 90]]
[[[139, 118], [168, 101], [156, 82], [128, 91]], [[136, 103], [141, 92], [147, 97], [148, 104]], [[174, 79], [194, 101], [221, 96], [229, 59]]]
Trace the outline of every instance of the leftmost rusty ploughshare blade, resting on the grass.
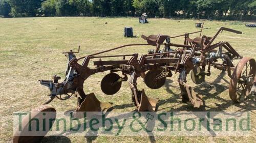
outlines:
[[86, 99], [78, 106], [76, 112], [103, 112], [105, 113], [109, 108], [111, 108], [112, 103], [109, 102], [100, 102], [94, 93], [91, 93], [86, 96]]

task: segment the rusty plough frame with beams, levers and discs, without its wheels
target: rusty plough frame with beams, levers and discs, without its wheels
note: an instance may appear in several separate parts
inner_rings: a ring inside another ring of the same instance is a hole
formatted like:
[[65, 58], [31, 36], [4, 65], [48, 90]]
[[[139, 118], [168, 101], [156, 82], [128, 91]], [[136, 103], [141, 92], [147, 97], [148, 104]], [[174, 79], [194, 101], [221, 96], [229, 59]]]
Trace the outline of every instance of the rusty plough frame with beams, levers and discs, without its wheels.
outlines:
[[[120, 71], [122, 72], [122, 75], [125, 75], [126, 78], [127, 76], [130, 76], [131, 79], [129, 83], [131, 91], [133, 93], [132, 99], [136, 107], [139, 108], [142, 99], [142, 90], [137, 89], [137, 78], [144, 78], [145, 84], [148, 87], [152, 89], [158, 89], [162, 87], [166, 77], [172, 77], [173, 71], [180, 74], [179, 84], [181, 87], [181, 93], [183, 93], [181, 94], [182, 98], [184, 98], [183, 101], [187, 101], [187, 99], [189, 99], [189, 102], [193, 103], [194, 106], [198, 107], [201, 105], [202, 99], [194, 96], [195, 93], [193, 93], [193, 89], [186, 84], [187, 74], [191, 72], [191, 78], [197, 84], [202, 83], [205, 76], [210, 76], [211, 67], [220, 70], [226, 70], [228, 71], [228, 75], [231, 75], [231, 69], [234, 68], [232, 60], [242, 58], [242, 56], [236, 50], [234, 50], [234, 48], [228, 42], [224, 41], [214, 43], [216, 37], [222, 31], [228, 31], [236, 34], [241, 34], [241, 32], [232, 30], [230, 28], [221, 27], [220, 30], [215, 34], [215, 36], [208, 37], [203, 35], [201, 37], [202, 30], [203, 27], [201, 28], [201, 31], [186, 33], [173, 37], [167, 35], [150, 35], [147, 37], [142, 35], [141, 37], [146, 40], [146, 44], [123, 45], [98, 53], [93, 53], [87, 56], [82, 56], [78, 59], [74, 55], [75, 52], [65, 52], [68, 54], [68, 71], [65, 80], [63, 82], [58, 82], [59, 79], [55, 78], [54, 81], [40, 80], [40, 82], [42, 85], [45, 85], [50, 89], [51, 97], [57, 97], [58, 99], [68, 99], [73, 94], [78, 93], [78, 105], [81, 105], [83, 101], [87, 99], [87, 95], [83, 92], [83, 83], [86, 82], [86, 79], [88, 79], [93, 74], [101, 73], [104, 71]], [[200, 36], [196, 38], [189, 38], [189, 35], [195, 33], [200, 33]], [[183, 44], [170, 42], [170, 39], [182, 36], [184, 36]], [[144, 45], [155, 46], [155, 48], [148, 50], [149, 52], [147, 54], [142, 54], [140, 57], [138, 53], [103, 56], [99, 55], [120, 48]], [[161, 49], [162, 45], [164, 45], [163, 49]], [[227, 51], [224, 52], [224, 49], [226, 49]], [[118, 57], [123, 57], [123, 60], [103, 60], [104, 58]], [[96, 67], [89, 67], [90, 61], [96, 58], [100, 58], [98, 61], [93, 61]], [[82, 64], [78, 64], [78, 61], [82, 59]], [[222, 64], [217, 63], [219, 59], [223, 61]], [[162, 71], [163, 73], [161, 72], [160, 74], [153, 71]], [[103, 78], [101, 82], [101, 89], [103, 93], [105, 93], [106, 95], [113, 95], [117, 93], [120, 90], [121, 82], [126, 81], [126, 78], [125, 80], [123, 80], [121, 76], [116, 73], [111, 73], [107, 75]], [[68, 96], [60, 98], [61, 95]], [[146, 95], [144, 94], [143, 96]], [[92, 97], [96, 98], [95, 95]], [[146, 98], [143, 97], [143, 99]], [[49, 101], [52, 101], [52, 99]], [[88, 102], [88, 104], [90, 103]], [[95, 110], [100, 110], [98, 105], [97, 107], [98, 108], [95, 108]], [[87, 110], [87, 108], [84, 109]]]

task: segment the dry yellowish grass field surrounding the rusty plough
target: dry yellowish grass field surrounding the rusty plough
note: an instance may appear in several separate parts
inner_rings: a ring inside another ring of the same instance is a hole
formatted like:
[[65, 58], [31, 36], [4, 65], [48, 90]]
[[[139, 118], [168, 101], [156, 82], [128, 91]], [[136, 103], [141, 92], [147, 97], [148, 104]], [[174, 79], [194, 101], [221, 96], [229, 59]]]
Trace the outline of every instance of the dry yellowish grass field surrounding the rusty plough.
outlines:
[[[199, 31], [193, 20], [148, 19], [149, 24], [139, 24], [137, 18], [49, 17], [49, 18], [0, 18], [0, 142], [12, 142], [12, 113], [29, 111], [42, 104], [48, 97], [48, 89], [38, 79], [50, 79], [53, 74], [65, 75], [66, 57], [61, 52], [77, 49], [77, 56], [110, 49], [116, 46], [145, 43], [142, 34], [175, 36]], [[180, 22], [178, 22], [180, 21]], [[104, 24], [108, 22], [108, 24]], [[203, 35], [213, 36], [220, 27], [234, 28], [242, 35], [223, 32], [216, 41], [228, 41], [240, 54], [256, 58], [256, 28], [245, 27], [236, 21], [204, 21]], [[123, 37], [123, 27], [132, 26], [137, 38]], [[198, 34], [190, 35], [197, 37]], [[174, 39], [181, 43], [183, 38]], [[132, 47], [114, 53], [146, 53], [148, 47]], [[234, 61], [237, 63], [238, 61]], [[127, 82], [114, 96], [106, 96], [100, 90], [100, 81], [107, 72], [91, 76], [84, 84], [86, 93], [94, 92], [100, 101], [114, 102], [114, 111], [132, 111], [131, 91]], [[147, 96], [159, 98], [159, 110], [202, 111], [189, 104], [182, 104], [179, 97], [177, 75], [167, 79], [158, 90], [146, 87], [141, 79], [138, 88], [145, 89]], [[230, 78], [219, 70], [212, 70], [206, 82], [195, 87], [203, 95], [206, 111], [251, 111], [250, 136], [119, 136], [119, 137], [46, 137], [42, 142], [255, 142], [255, 97], [241, 104], [234, 104], [228, 95]], [[191, 83], [191, 81], [188, 81]], [[57, 111], [76, 108], [76, 99], [54, 100]]]

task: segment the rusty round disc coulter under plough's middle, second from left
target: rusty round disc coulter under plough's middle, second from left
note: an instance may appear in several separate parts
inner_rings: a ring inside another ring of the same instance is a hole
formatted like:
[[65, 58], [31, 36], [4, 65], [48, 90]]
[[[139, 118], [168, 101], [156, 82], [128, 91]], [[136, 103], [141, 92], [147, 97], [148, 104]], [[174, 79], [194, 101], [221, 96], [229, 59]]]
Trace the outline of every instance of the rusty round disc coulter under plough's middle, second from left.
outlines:
[[161, 75], [162, 72], [163, 70], [153, 69], [146, 73], [144, 82], [146, 83], [148, 88], [159, 89], [164, 85], [166, 77], [162, 77], [161, 79], [157, 80], [157, 78]]

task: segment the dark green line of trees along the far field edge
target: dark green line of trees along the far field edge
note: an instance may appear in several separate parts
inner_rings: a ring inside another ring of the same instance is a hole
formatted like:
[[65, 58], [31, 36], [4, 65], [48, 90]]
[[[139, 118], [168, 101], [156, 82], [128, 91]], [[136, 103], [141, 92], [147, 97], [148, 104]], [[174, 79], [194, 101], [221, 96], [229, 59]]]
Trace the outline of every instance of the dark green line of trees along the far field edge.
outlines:
[[256, 0], [0, 0], [4, 17], [140, 16], [255, 19]]

